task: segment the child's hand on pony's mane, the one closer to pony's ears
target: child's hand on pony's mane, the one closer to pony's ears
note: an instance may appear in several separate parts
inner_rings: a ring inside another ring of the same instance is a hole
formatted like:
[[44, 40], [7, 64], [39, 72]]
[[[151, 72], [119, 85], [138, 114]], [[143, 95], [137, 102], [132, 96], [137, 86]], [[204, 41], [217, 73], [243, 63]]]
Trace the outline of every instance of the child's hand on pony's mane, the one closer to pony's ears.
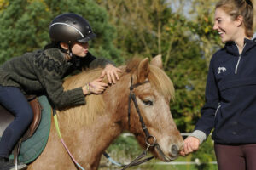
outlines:
[[111, 64], [108, 64], [102, 71], [101, 78], [103, 78], [103, 77], [105, 77], [105, 75], [107, 75], [108, 82], [115, 84], [116, 80], [119, 80], [119, 72], [122, 72], [119, 68], [117, 68]]

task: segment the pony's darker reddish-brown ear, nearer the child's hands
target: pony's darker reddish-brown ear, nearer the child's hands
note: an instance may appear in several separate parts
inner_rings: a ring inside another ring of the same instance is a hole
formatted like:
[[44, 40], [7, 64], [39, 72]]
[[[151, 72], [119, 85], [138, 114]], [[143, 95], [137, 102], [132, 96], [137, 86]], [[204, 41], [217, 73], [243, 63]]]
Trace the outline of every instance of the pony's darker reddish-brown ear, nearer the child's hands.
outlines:
[[148, 77], [149, 73], [149, 59], [143, 59], [140, 64], [138, 65], [138, 72], [137, 72], [137, 81], [144, 82]]

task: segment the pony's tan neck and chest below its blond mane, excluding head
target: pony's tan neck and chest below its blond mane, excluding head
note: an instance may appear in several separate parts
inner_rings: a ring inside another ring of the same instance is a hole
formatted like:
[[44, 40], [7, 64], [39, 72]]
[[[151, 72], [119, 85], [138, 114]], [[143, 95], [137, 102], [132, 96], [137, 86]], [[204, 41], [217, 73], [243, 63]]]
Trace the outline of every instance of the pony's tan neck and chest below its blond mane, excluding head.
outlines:
[[[105, 113], [97, 116], [96, 120], [85, 127], [62, 127], [61, 132], [73, 156], [80, 158], [79, 162], [97, 167], [102, 152], [116, 139], [125, 128], [127, 118], [129, 82], [128, 77], [121, 77], [103, 93], [106, 102]], [[117, 97], [118, 96], [118, 97]], [[63, 120], [64, 125], [68, 124]], [[75, 143], [75, 144], [74, 144]], [[81, 156], [83, 154], [83, 156]]]

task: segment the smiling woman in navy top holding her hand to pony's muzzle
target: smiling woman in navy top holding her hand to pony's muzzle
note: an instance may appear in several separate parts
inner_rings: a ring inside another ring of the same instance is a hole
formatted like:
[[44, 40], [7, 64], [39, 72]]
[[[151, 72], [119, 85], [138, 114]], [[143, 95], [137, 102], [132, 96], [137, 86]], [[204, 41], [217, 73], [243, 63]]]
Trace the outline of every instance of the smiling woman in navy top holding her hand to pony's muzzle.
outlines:
[[184, 141], [183, 156], [198, 150], [212, 128], [218, 168], [247, 170], [256, 167], [256, 2], [221, 0], [213, 29], [224, 48], [212, 56], [206, 104], [195, 131]]

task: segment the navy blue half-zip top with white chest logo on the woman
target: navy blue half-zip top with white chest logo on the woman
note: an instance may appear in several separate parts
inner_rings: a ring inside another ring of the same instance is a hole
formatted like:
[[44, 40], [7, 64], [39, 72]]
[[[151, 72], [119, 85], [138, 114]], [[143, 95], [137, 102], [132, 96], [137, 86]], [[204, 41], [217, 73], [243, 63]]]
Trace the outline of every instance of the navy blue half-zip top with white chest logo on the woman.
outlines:
[[[235, 42], [212, 56], [206, 104], [195, 131], [219, 144], [256, 143], [256, 42], [245, 39], [239, 54]], [[193, 136], [193, 135], [192, 135]]]

